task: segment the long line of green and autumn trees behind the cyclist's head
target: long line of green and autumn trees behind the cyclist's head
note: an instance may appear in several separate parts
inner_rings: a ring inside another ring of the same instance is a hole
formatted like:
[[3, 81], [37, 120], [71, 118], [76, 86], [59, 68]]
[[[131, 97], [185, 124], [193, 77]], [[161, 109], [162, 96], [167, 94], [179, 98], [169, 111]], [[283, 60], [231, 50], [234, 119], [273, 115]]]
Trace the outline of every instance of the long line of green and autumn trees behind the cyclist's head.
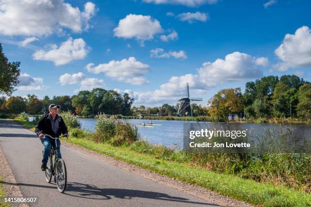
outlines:
[[42, 114], [48, 112], [51, 103], [60, 106], [62, 111], [70, 111], [83, 117], [93, 117], [99, 113], [131, 115], [131, 106], [134, 98], [128, 93], [121, 95], [113, 90], [95, 88], [91, 91], [83, 90], [77, 95], [45, 96], [39, 99], [36, 95], [27, 97], [11, 96], [6, 99], [0, 97], [0, 112], [19, 114]]

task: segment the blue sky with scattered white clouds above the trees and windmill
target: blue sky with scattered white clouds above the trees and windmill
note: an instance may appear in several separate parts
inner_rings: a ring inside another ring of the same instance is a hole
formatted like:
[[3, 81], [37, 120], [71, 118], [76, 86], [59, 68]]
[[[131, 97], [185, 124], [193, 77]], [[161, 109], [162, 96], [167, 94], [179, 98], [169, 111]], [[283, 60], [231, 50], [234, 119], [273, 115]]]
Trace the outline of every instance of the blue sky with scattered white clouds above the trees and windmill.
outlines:
[[[0, 42], [21, 62], [13, 95], [103, 87], [135, 105], [202, 105], [267, 75], [311, 81], [310, 1], [0, 1]], [[287, 38], [286, 38], [287, 35]]]

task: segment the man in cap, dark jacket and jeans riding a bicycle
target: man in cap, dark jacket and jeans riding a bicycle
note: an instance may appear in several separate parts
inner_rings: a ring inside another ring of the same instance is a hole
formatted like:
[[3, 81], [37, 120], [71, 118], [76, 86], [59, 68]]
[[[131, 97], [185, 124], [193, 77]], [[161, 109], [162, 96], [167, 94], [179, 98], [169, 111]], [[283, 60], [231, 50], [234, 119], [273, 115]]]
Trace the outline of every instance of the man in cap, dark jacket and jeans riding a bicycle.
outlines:
[[[46, 164], [49, 159], [50, 149], [51, 146], [55, 149], [55, 141], [49, 137], [45, 137], [44, 134], [49, 134], [52, 137], [58, 137], [61, 133], [67, 134], [68, 137], [68, 130], [67, 126], [64, 122], [64, 119], [58, 115], [59, 106], [55, 104], [51, 104], [49, 106], [49, 113], [42, 117], [36, 126], [36, 134], [39, 136], [43, 147], [43, 159], [41, 170], [45, 171]], [[57, 154], [58, 157], [61, 158], [60, 154], [60, 141], [59, 139], [56, 140], [58, 148]]]

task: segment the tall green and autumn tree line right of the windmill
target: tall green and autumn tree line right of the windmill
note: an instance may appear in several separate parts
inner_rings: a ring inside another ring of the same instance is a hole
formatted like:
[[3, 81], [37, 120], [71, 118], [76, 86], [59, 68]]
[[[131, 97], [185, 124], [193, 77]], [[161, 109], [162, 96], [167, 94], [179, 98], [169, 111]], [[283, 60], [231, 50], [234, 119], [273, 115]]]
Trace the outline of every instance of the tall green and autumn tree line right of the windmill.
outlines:
[[208, 114], [228, 120], [228, 115], [246, 118], [311, 118], [311, 84], [295, 75], [267, 76], [246, 82], [240, 88], [223, 89], [208, 101]]

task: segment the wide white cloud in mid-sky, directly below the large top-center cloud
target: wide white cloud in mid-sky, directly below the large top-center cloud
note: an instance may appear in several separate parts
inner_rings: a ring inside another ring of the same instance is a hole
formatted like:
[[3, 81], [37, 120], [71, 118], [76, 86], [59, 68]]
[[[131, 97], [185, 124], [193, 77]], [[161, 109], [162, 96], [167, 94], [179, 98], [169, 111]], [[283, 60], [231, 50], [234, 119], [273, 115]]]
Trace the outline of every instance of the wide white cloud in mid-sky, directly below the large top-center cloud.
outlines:
[[94, 63], [88, 63], [86, 70], [94, 74], [105, 73], [107, 77], [120, 82], [140, 85], [148, 82], [143, 76], [150, 71], [150, 66], [137, 61], [135, 57], [129, 57], [129, 59], [120, 61], [111, 60], [109, 63], [97, 66], [94, 66]]

